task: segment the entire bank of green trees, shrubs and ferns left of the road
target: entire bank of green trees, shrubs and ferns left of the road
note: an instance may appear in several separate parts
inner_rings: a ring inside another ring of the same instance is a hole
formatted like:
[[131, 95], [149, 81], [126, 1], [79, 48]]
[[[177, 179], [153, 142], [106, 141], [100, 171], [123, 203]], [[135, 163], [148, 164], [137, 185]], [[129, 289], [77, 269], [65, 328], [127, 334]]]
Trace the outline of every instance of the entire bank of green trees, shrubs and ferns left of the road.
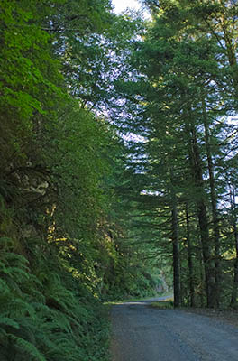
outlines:
[[3, 361], [106, 361], [100, 300], [155, 288], [127, 242], [116, 180], [124, 146], [106, 112], [98, 116], [118, 66], [112, 53], [140, 26], [107, 0], [1, 3]]

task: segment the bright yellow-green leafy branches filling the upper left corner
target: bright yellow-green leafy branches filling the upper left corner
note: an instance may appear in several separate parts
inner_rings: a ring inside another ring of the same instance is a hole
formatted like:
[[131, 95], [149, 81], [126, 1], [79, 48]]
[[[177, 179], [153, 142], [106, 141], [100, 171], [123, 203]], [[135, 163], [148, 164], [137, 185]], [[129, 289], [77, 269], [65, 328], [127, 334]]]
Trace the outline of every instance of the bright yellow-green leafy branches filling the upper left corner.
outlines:
[[51, 57], [50, 36], [41, 30], [39, 16], [35, 1], [1, 4], [0, 130], [5, 134], [1, 153], [6, 164], [25, 158], [32, 116], [45, 114], [50, 97], [56, 99], [60, 93], [59, 64]]

